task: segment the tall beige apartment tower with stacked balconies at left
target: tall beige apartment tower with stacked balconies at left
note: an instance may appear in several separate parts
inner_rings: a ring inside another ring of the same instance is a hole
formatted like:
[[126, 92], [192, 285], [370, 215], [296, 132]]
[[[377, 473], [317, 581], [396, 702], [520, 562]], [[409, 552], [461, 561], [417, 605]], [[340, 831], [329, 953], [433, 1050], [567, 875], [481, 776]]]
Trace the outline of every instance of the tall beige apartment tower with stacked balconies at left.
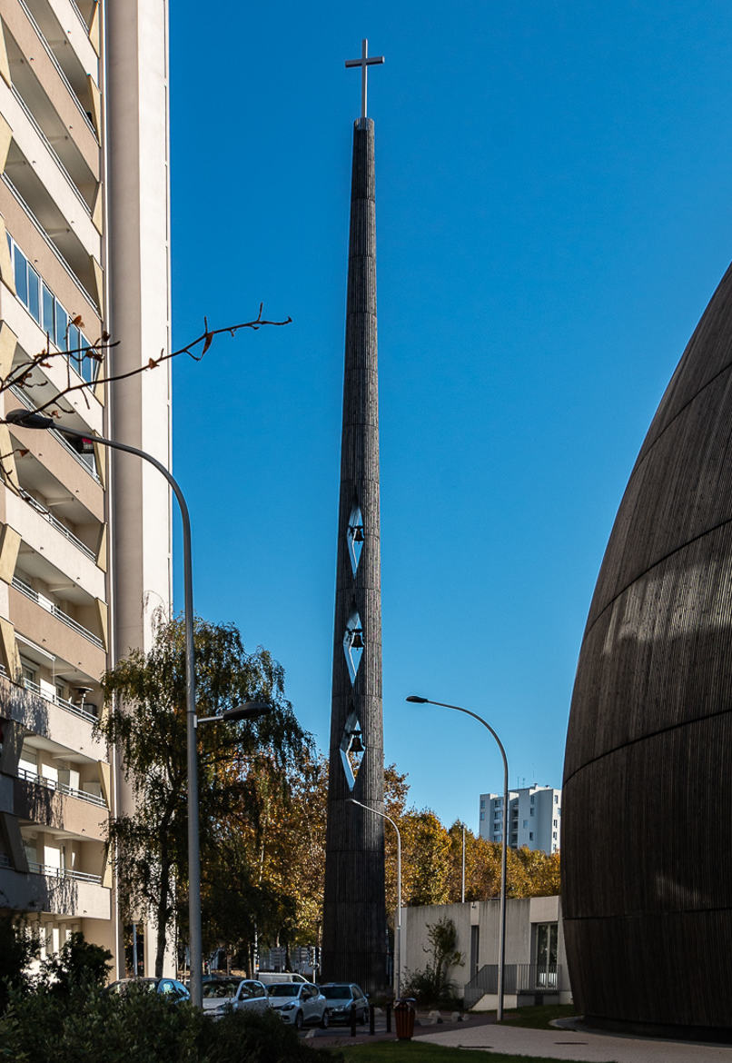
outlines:
[[[170, 347], [167, 26], [167, 0], [0, 0], [0, 379], [51, 355], [2, 409], [59, 396], [59, 425], [169, 466], [169, 371], [103, 382]], [[0, 909], [123, 975], [104, 827], [131, 797], [92, 724], [102, 673], [170, 607], [170, 496], [57, 431], [0, 425]]]

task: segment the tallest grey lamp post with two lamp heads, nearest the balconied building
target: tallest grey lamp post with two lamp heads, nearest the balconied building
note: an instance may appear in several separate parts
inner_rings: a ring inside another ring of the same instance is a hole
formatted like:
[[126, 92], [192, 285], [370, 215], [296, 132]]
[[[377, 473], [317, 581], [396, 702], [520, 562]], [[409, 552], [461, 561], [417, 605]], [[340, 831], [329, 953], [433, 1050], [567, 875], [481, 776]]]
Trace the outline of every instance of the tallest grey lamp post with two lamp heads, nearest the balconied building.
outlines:
[[[185, 627], [186, 645], [186, 756], [188, 765], [188, 922], [190, 925], [190, 997], [195, 1007], [201, 1008], [203, 1001], [203, 947], [201, 942], [201, 851], [199, 842], [199, 764], [198, 750], [195, 747], [195, 667], [193, 646], [193, 578], [191, 568], [190, 549], [190, 518], [188, 517], [188, 506], [177, 482], [166, 467], [137, 446], [130, 446], [127, 443], [120, 443], [115, 439], [105, 439], [103, 436], [91, 436], [88, 432], [81, 432], [79, 428], [70, 428], [66, 425], [57, 424], [52, 417], [45, 417], [42, 414], [34, 414], [28, 409], [14, 409], [5, 415], [7, 424], [17, 424], [20, 428], [55, 428], [62, 435], [79, 439], [83, 444], [108, 446], [112, 450], [124, 451], [126, 454], [135, 454], [149, 461], [168, 480], [170, 487], [177, 499], [181, 508], [181, 519], [183, 522], [183, 614]], [[246, 708], [246, 706], [242, 706]], [[237, 709], [229, 709], [228, 715], [207, 716], [207, 720], [238, 720], [242, 716], [236, 715]], [[259, 714], [258, 712], [255, 714]]]

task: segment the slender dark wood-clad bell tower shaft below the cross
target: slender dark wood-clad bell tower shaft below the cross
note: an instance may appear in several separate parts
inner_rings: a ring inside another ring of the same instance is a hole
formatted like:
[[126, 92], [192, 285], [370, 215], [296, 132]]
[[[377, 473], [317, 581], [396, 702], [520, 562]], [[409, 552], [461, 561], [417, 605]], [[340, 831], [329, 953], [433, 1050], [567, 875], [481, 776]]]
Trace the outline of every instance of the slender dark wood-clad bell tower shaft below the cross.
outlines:
[[[367, 119], [354, 130], [322, 957], [323, 979], [356, 981], [367, 992], [387, 982], [384, 820], [348, 798], [384, 811], [375, 234], [374, 126]], [[354, 573], [355, 506], [363, 547]], [[343, 637], [354, 612], [364, 646], [352, 684]], [[341, 759], [352, 712], [365, 747], [353, 791]]]

